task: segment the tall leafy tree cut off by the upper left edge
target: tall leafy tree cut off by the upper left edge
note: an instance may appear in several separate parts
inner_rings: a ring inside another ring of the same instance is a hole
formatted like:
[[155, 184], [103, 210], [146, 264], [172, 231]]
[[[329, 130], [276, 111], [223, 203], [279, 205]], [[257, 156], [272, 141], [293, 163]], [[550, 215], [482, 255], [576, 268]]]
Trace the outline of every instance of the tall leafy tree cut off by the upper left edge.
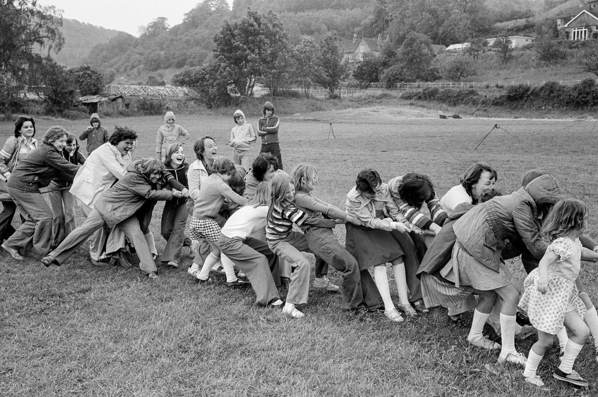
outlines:
[[35, 0], [0, 0], [0, 109], [10, 118], [15, 97], [27, 84], [32, 65], [46, 58], [38, 49], [60, 51], [64, 39], [59, 27], [62, 15], [56, 7]]

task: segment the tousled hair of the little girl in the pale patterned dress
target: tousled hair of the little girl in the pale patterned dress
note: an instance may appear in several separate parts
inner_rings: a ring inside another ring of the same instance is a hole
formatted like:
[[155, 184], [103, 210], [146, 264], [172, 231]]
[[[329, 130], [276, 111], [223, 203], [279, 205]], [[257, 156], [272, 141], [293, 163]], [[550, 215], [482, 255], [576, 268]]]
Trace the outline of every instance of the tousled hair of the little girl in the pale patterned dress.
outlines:
[[578, 199], [563, 199], [554, 205], [542, 225], [541, 233], [547, 241], [563, 237], [572, 229], [585, 229], [588, 207]]

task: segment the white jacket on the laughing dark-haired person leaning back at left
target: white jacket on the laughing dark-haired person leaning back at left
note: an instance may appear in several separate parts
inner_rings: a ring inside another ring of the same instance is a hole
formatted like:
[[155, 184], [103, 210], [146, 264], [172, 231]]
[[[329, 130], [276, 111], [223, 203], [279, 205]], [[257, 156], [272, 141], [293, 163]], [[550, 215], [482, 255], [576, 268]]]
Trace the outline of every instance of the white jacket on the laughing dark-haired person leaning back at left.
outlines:
[[116, 146], [106, 142], [91, 152], [85, 164], [81, 165], [69, 192], [87, 207], [93, 208], [104, 190], [124, 177], [131, 161], [130, 154], [123, 157]]

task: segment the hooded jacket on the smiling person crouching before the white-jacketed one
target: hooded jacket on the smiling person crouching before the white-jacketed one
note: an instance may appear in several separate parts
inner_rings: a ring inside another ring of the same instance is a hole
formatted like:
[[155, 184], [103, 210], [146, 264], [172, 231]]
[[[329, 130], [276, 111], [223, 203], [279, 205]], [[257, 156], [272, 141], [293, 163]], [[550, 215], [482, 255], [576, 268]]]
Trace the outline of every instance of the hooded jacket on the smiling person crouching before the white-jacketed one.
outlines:
[[171, 200], [170, 190], [155, 190], [149, 178], [140, 173], [135, 163], [129, 164], [124, 178], [106, 190], [95, 208], [108, 227], [135, 215], [147, 200]]

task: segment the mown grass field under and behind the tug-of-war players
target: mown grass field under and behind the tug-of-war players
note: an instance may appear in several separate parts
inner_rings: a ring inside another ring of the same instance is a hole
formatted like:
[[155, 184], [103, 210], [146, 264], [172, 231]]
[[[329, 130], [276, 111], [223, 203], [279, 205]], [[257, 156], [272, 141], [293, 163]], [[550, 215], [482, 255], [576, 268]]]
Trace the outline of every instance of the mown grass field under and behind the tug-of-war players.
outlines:
[[[254, 122], [256, 112], [247, 112]], [[517, 189], [524, 171], [542, 168], [563, 190], [587, 202], [591, 236], [598, 236], [598, 166], [594, 121], [529, 119], [440, 120], [428, 111], [395, 107], [349, 109], [285, 116], [280, 146], [285, 170], [310, 162], [319, 171], [316, 194], [343, 206], [355, 176], [376, 168], [383, 180], [410, 171], [428, 174], [438, 195], [459, 182], [471, 162], [499, 170], [504, 193]], [[154, 155], [162, 116], [103, 119], [126, 124], [140, 135], [135, 156]], [[327, 139], [332, 122], [336, 139]], [[193, 140], [214, 137], [219, 153], [232, 125], [221, 116], [178, 115]], [[36, 137], [53, 124], [78, 132], [86, 121], [39, 119]], [[475, 141], [489, 137], [474, 152]], [[0, 122], [4, 141], [13, 127]], [[192, 161], [191, 145], [185, 147]], [[257, 147], [255, 150], [257, 153]], [[152, 230], [158, 251], [161, 208]], [[79, 219], [80, 221], [80, 219]], [[344, 242], [344, 227], [335, 235]], [[94, 267], [80, 250], [62, 267], [17, 263], [0, 253], [1, 396], [569, 396], [551, 371], [557, 351], [539, 368], [549, 392], [523, 383], [520, 368], [496, 365], [497, 353], [466, 343], [471, 316], [450, 324], [445, 310], [401, 325], [383, 316], [356, 321], [340, 310], [340, 294], [310, 291], [301, 320], [253, 305], [251, 290], [228, 290], [224, 281], [197, 287], [182, 269], [160, 267], [149, 281], [136, 269]], [[523, 281], [518, 261], [509, 266]], [[582, 278], [598, 300], [596, 272], [585, 264]], [[330, 278], [340, 278], [331, 269]], [[391, 283], [393, 284], [393, 283]], [[398, 299], [396, 299], [398, 302]], [[488, 331], [491, 338], [496, 338]], [[518, 343], [527, 354], [535, 337]], [[496, 339], [498, 340], [498, 339]], [[591, 341], [576, 363], [598, 390]]]

